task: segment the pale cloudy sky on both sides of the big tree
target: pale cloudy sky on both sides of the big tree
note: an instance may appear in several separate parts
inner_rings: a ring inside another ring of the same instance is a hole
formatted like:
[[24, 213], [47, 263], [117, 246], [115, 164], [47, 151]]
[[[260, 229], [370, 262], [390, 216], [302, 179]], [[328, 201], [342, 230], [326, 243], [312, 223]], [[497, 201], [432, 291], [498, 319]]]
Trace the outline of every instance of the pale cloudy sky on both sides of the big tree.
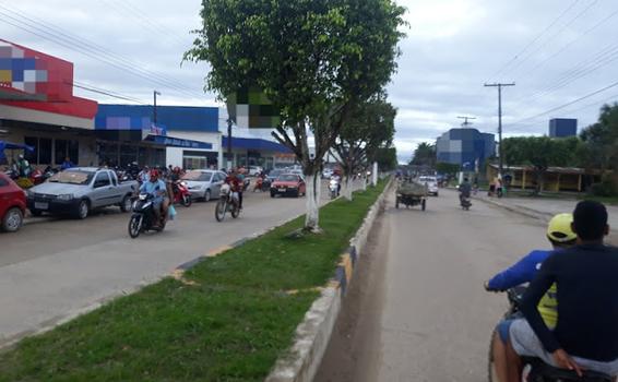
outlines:
[[[207, 65], [180, 65], [189, 32], [200, 25], [200, 3], [0, 0], [0, 38], [72, 61], [79, 85], [131, 100], [76, 88], [81, 96], [150, 104], [156, 88], [164, 105], [214, 106], [202, 91]], [[556, 117], [578, 118], [582, 128], [601, 105], [618, 99], [615, 0], [399, 3], [409, 23], [389, 85], [400, 160], [457, 127], [457, 116], [496, 132], [498, 94], [484, 83], [516, 83], [503, 91], [506, 135], [546, 133]]]

